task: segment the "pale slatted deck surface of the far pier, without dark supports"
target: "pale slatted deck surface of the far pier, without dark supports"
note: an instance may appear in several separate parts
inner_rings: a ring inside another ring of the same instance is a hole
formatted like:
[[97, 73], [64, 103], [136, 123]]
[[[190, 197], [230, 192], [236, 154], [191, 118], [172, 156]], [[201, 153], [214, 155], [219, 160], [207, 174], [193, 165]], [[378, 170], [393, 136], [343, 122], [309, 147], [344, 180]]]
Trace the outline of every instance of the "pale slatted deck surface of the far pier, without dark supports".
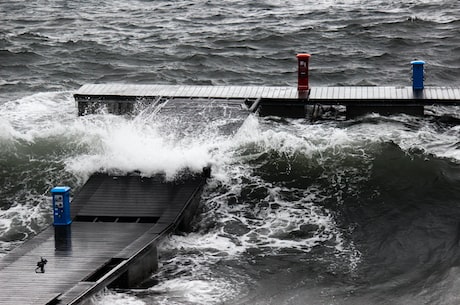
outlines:
[[311, 104], [343, 105], [386, 101], [458, 105], [460, 87], [425, 87], [422, 91], [414, 91], [412, 87], [312, 87], [306, 96], [295, 87], [86, 84], [74, 96], [77, 101], [172, 97], [302, 100]]

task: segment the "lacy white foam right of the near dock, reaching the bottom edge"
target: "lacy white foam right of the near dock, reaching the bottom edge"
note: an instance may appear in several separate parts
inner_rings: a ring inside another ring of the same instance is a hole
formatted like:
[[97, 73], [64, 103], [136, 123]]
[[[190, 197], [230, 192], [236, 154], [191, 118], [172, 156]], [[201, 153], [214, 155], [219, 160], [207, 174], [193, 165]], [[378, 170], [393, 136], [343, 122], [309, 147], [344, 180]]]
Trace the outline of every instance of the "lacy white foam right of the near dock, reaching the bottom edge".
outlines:
[[[162, 261], [160, 283], [148, 290], [152, 294], [148, 299], [154, 299], [154, 304], [219, 304], [231, 300], [246, 289], [244, 281], [232, 279], [235, 275], [229, 274], [216, 278], [213, 269], [223, 261], [243, 261], [251, 249], [259, 249], [261, 256], [277, 255], [286, 249], [308, 253], [329, 242], [337, 255], [348, 257], [350, 268], [359, 264], [359, 251], [342, 236], [331, 213], [321, 207], [326, 197], [318, 189], [270, 185], [260, 177], [254, 178], [248, 164], [267, 150], [286, 155], [301, 152], [310, 157], [327, 150], [339, 154], [343, 147], [354, 145], [356, 139], [340, 129], [305, 126], [300, 121], [278, 127], [272, 130], [256, 116], [250, 116], [232, 139], [212, 151], [212, 158], [220, 160], [216, 165], [219, 174], [210, 181], [204, 195], [205, 212], [200, 216], [203, 230], [172, 235], [160, 245], [160, 253], [171, 253], [172, 257]], [[252, 153], [242, 151], [254, 144]], [[238, 196], [248, 183], [268, 189], [263, 200], [269, 205], [229, 204], [229, 198]], [[283, 193], [289, 192], [302, 195], [295, 201], [283, 199]], [[207, 222], [213, 224], [208, 227]], [[237, 223], [238, 228], [230, 227], [231, 223]], [[305, 225], [310, 225], [311, 232], [298, 238], [289, 236]], [[210, 274], [214, 276], [211, 279]]]

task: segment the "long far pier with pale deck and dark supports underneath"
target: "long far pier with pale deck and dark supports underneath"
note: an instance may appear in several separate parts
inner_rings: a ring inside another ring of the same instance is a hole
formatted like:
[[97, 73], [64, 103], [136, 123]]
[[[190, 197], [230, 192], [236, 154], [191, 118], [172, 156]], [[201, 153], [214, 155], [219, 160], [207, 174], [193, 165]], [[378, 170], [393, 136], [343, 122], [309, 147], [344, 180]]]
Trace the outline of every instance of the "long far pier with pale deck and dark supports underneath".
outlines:
[[262, 115], [305, 117], [306, 107], [337, 106], [347, 108], [349, 116], [368, 112], [382, 114], [423, 114], [424, 106], [460, 105], [460, 87], [312, 87], [298, 91], [294, 87], [259, 86], [181, 86], [87, 84], [75, 94], [79, 114], [101, 103], [123, 113], [138, 101], [158, 99], [233, 99], [241, 100]]

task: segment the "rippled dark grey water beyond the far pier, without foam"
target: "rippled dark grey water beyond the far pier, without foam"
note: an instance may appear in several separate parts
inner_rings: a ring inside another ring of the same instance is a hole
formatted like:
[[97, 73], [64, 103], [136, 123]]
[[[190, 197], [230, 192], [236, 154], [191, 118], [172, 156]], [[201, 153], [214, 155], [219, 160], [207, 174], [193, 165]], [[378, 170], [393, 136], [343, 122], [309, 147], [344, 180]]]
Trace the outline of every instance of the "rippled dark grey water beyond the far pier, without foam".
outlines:
[[414, 58], [428, 62], [428, 84], [455, 84], [460, 69], [456, 1], [1, 6], [3, 100], [85, 82], [294, 85], [299, 51], [314, 55], [317, 85], [406, 85]]

